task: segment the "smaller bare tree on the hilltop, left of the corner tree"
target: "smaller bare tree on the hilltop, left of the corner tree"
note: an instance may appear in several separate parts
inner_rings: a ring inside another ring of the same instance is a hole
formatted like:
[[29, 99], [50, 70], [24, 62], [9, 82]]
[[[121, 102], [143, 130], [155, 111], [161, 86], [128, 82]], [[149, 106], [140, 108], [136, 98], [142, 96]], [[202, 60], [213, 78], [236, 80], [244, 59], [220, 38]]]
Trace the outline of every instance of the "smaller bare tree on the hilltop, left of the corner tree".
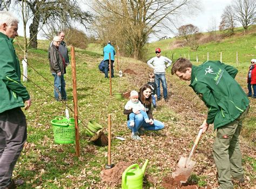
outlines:
[[231, 5], [226, 6], [223, 14], [221, 15], [221, 22], [219, 25], [220, 31], [228, 31], [230, 35], [234, 33], [235, 24], [234, 12]]

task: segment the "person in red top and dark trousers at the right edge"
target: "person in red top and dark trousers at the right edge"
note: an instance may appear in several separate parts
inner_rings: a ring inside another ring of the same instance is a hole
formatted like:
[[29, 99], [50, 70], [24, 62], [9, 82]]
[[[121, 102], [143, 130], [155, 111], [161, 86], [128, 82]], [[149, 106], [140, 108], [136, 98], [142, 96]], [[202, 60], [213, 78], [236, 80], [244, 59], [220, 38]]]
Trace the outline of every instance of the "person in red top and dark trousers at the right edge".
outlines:
[[253, 98], [256, 98], [256, 59], [251, 60], [251, 66], [249, 67], [248, 75], [247, 75], [247, 87], [248, 87], [248, 95], [252, 96], [252, 88], [253, 88]]

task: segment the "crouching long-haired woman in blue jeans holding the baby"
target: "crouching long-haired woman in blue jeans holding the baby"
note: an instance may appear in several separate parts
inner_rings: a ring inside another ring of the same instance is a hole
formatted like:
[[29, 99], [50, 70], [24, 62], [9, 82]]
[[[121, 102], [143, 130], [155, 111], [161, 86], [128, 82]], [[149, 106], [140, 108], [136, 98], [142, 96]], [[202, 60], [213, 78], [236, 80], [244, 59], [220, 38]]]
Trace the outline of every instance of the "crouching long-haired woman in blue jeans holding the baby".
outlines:
[[[132, 135], [131, 137], [133, 139], [136, 139], [140, 141], [142, 138], [140, 138], [139, 135], [144, 134], [144, 130], [160, 130], [164, 128], [164, 123], [154, 120], [152, 115], [152, 98], [151, 98], [151, 87], [150, 85], [143, 85], [139, 89], [139, 101], [142, 102], [143, 106], [145, 107], [145, 111], [147, 115], [149, 116], [150, 122], [146, 123], [144, 120], [144, 117], [142, 114], [140, 114], [139, 110], [124, 110], [124, 114], [127, 115], [127, 127], [131, 129]], [[134, 127], [130, 126], [129, 121], [129, 114], [131, 113], [135, 114], [134, 117]]]

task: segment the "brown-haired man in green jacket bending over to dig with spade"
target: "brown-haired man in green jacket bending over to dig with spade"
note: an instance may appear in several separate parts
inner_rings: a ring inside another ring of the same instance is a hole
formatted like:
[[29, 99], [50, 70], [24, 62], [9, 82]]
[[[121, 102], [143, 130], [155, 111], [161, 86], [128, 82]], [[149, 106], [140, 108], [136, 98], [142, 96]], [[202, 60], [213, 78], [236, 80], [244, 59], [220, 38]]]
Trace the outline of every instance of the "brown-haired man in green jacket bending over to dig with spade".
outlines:
[[190, 87], [208, 108], [207, 118], [199, 129], [203, 133], [214, 123], [217, 136], [213, 144], [213, 158], [218, 171], [220, 188], [233, 188], [231, 177], [244, 182], [242, 157], [238, 136], [249, 110], [244, 90], [234, 80], [238, 70], [220, 61], [206, 61], [194, 66], [179, 58], [172, 67], [172, 75], [190, 81]]

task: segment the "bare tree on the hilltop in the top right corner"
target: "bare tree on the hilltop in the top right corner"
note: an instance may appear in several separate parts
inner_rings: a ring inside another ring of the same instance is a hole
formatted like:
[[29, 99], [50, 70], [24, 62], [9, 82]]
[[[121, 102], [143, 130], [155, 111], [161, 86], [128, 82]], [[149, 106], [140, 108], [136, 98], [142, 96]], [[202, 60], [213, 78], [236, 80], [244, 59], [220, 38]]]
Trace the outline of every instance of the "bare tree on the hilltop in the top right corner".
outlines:
[[255, 0], [234, 0], [234, 20], [237, 20], [244, 27], [245, 33], [248, 27], [256, 23], [256, 2]]

